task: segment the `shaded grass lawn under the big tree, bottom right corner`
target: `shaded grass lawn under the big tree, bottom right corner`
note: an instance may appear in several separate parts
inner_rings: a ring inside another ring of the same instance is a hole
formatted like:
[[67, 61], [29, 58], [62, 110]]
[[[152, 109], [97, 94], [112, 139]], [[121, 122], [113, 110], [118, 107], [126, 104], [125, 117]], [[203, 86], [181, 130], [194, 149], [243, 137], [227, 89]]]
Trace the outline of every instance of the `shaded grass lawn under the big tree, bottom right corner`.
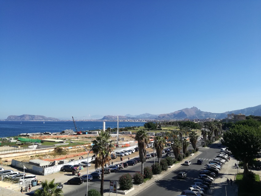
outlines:
[[243, 173], [236, 175], [238, 184], [238, 196], [259, 195], [261, 190], [260, 176], [255, 174], [255, 182], [243, 181]]

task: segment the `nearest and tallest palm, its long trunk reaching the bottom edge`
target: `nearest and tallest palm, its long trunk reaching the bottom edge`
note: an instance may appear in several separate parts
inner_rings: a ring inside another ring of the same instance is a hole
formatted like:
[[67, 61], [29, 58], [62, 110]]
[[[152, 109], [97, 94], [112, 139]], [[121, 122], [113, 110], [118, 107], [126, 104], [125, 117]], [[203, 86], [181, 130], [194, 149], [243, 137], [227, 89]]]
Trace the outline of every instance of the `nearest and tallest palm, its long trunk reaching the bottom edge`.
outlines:
[[108, 131], [100, 131], [99, 136], [92, 141], [94, 144], [93, 153], [96, 155], [95, 158], [95, 169], [102, 168], [101, 173], [101, 188], [100, 193], [103, 196], [103, 184], [104, 184], [104, 165], [109, 164], [111, 160], [111, 151], [114, 148], [113, 141], [110, 140], [111, 135]]

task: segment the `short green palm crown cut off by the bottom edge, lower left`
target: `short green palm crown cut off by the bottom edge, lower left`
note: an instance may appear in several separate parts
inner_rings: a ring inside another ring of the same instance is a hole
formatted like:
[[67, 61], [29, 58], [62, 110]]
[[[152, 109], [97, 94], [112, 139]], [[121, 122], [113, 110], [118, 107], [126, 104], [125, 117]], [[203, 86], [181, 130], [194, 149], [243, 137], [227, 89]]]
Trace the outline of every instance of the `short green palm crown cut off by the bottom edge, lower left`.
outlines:
[[42, 189], [37, 189], [34, 192], [35, 196], [62, 196], [63, 191], [61, 189], [57, 189], [57, 184], [54, 183], [53, 179], [51, 182], [45, 180], [41, 183]]

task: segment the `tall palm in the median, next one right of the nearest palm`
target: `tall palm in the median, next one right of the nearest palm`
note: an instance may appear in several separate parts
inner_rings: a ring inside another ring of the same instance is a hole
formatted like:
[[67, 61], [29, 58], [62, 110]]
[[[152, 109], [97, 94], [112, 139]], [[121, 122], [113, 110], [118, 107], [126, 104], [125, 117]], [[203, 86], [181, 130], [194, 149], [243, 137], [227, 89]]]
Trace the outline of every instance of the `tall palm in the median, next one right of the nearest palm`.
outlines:
[[146, 133], [145, 130], [137, 131], [135, 135], [135, 140], [138, 141], [139, 155], [140, 155], [140, 162], [141, 162], [141, 173], [143, 176], [144, 162], [146, 162], [146, 146], [148, 143], [150, 143], [149, 135]]

